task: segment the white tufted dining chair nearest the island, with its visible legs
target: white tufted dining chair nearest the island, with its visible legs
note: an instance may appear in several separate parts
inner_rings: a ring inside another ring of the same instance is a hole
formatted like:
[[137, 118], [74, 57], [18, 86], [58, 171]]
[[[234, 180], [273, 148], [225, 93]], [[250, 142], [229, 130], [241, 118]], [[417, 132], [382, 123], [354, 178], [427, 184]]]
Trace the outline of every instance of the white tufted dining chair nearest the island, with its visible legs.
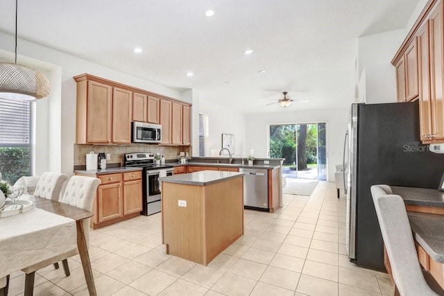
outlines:
[[[59, 202], [91, 211], [92, 204], [94, 202], [94, 196], [96, 195], [96, 190], [100, 183], [100, 179], [96, 177], [83, 177], [74, 175], [69, 179], [67, 187], [65, 189], [65, 193], [63, 194]], [[89, 242], [89, 220], [90, 218], [83, 220], [83, 229], [85, 230], [87, 243]], [[26, 273], [24, 295], [33, 294], [35, 271], [48, 265], [62, 261], [65, 275], [69, 276], [67, 259], [71, 256], [75, 256], [76, 254], [78, 254], [77, 247], [69, 252], [58, 254], [51, 259], [24, 268], [23, 271]]]

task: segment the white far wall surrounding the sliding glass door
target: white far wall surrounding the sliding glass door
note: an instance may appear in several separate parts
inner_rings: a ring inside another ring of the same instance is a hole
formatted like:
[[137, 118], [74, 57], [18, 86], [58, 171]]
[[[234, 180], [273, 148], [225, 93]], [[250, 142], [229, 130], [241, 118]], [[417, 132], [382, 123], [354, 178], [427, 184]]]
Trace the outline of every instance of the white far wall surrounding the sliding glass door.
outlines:
[[[350, 98], [350, 104], [352, 103]], [[283, 113], [250, 114], [246, 116], [246, 146], [255, 156], [268, 157], [268, 126], [287, 123], [327, 123], [328, 180], [334, 181], [334, 166], [342, 164], [345, 130], [348, 128], [348, 109], [301, 110]]]

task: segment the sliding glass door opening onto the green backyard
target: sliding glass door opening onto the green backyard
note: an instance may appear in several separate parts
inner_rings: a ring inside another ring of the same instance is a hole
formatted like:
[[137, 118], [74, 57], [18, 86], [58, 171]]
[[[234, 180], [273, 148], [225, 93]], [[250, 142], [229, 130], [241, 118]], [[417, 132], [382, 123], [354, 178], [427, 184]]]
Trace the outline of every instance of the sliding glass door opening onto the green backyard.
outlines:
[[327, 180], [327, 124], [270, 125], [270, 157], [284, 158], [286, 180]]

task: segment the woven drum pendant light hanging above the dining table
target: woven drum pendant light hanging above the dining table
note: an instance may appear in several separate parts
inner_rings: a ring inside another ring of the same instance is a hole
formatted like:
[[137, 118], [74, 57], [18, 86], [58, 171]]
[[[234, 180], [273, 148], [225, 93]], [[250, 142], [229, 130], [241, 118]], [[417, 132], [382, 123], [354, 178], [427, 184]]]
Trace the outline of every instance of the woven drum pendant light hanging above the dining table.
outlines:
[[17, 6], [15, 0], [15, 62], [0, 62], [0, 98], [32, 101], [48, 96], [49, 80], [35, 69], [17, 64]]

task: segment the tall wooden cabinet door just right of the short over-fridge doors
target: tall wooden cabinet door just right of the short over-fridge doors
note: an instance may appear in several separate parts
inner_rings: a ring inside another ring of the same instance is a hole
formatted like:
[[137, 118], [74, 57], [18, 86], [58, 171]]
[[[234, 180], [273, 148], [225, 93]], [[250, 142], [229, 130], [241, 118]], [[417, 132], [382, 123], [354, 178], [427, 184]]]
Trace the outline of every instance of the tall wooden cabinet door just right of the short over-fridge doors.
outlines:
[[432, 134], [432, 106], [430, 102], [429, 23], [418, 31], [419, 113], [421, 141]]

